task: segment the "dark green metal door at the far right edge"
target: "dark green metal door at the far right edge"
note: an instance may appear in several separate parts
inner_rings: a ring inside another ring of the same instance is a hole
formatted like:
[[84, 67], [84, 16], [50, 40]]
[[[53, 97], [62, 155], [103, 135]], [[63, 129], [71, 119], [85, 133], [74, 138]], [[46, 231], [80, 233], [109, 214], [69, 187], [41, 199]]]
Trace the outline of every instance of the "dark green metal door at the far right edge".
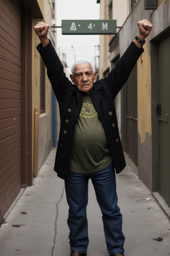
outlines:
[[158, 48], [159, 193], [170, 206], [170, 37]]

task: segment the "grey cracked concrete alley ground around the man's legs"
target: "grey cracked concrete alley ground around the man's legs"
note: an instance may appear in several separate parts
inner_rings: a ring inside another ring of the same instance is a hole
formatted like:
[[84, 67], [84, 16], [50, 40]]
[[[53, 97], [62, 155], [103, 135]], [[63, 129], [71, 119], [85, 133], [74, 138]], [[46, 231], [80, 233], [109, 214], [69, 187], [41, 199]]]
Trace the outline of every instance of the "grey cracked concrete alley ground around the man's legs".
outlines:
[[[55, 149], [34, 185], [21, 190], [0, 229], [1, 256], [69, 256], [68, 205], [64, 181], [53, 171]], [[129, 165], [117, 177], [124, 217], [125, 256], [169, 256], [170, 223]], [[90, 181], [88, 256], [108, 256], [102, 215]], [[14, 225], [14, 226], [13, 226]], [[17, 226], [16, 226], [17, 225]]]

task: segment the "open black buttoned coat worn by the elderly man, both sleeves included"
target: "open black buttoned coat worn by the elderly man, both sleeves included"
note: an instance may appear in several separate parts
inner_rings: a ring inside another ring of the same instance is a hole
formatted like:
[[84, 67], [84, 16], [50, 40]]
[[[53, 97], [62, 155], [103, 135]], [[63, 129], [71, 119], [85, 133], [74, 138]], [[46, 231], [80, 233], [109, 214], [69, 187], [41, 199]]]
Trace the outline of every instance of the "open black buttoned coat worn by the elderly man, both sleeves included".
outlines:
[[[40, 44], [37, 49], [46, 65], [48, 78], [60, 107], [60, 135], [54, 170], [58, 177], [67, 179], [70, 171], [74, 129], [82, 107], [82, 93], [66, 77], [62, 63], [51, 42], [44, 48]], [[143, 53], [143, 48], [140, 49], [132, 42], [116, 67], [106, 78], [96, 81], [92, 88], [92, 102], [102, 121], [116, 173], [120, 173], [126, 167], [126, 161], [118, 131], [114, 99], [126, 83], [141, 53]]]

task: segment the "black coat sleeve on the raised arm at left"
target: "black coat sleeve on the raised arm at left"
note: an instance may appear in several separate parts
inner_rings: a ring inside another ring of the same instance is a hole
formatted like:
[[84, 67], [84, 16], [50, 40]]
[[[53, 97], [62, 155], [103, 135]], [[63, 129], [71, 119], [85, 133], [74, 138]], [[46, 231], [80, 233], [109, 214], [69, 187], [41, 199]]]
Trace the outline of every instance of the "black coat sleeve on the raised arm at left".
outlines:
[[47, 69], [47, 75], [50, 79], [52, 89], [56, 95], [58, 103], [60, 103], [60, 101], [64, 99], [64, 95], [68, 90], [69, 85], [71, 85], [72, 83], [66, 77], [63, 65], [54, 47], [52, 46], [51, 41], [49, 41], [46, 47], [42, 47], [42, 44], [40, 43], [37, 46], [37, 50], [41, 54], [41, 57]]

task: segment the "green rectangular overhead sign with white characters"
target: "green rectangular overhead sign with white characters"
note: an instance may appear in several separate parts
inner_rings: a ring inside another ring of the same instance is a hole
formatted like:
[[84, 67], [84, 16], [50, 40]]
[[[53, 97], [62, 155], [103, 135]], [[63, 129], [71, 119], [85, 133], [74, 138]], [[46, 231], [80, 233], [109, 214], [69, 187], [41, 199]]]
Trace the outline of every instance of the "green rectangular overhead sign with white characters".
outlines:
[[62, 35], [113, 35], [116, 34], [116, 20], [62, 20]]

